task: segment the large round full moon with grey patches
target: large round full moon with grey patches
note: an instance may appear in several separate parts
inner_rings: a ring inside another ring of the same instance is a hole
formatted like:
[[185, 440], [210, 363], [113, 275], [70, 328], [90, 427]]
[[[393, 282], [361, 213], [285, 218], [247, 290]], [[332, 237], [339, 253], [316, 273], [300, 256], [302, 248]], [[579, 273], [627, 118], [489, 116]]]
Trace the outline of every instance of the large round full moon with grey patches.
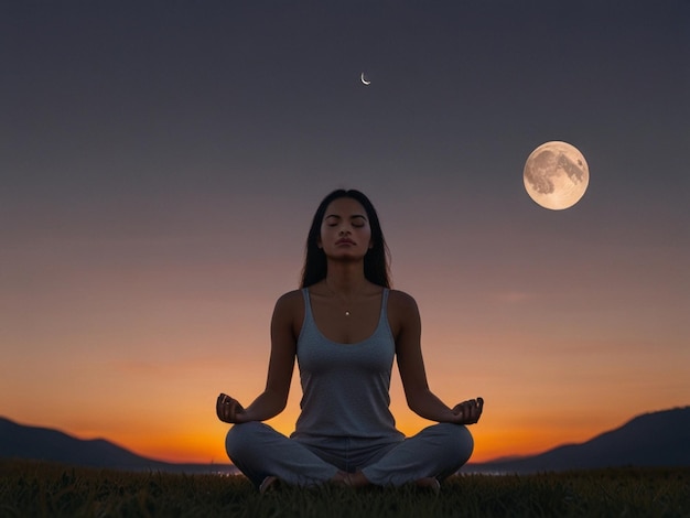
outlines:
[[584, 195], [590, 169], [574, 145], [558, 140], [546, 142], [530, 153], [522, 173], [527, 194], [551, 211], [572, 207]]

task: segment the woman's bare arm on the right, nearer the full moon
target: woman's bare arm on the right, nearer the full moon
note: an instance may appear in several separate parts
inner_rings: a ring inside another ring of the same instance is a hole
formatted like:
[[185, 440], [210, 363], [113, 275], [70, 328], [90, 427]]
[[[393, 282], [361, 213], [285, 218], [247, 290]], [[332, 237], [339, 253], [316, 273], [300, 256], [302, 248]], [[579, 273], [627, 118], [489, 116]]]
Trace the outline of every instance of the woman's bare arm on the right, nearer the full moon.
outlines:
[[391, 292], [390, 302], [396, 321], [398, 369], [410, 410], [430, 421], [476, 423], [484, 407], [482, 398], [463, 401], [451, 409], [429, 389], [421, 349], [421, 319], [414, 299], [395, 291]]

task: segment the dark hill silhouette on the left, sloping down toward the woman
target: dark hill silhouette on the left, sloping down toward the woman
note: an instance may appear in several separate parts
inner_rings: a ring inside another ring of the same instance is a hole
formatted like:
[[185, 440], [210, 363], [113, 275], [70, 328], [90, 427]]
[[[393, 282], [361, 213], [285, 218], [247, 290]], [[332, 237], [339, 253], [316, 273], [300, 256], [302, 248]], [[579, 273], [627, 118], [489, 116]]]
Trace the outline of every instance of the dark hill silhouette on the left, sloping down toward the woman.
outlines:
[[104, 439], [82, 440], [57, 430], [0, 418], [0, 458], [28, 458], [76, 466], [177, 473], [237, 473], [231, 464], [173, 464], [143, 457]]

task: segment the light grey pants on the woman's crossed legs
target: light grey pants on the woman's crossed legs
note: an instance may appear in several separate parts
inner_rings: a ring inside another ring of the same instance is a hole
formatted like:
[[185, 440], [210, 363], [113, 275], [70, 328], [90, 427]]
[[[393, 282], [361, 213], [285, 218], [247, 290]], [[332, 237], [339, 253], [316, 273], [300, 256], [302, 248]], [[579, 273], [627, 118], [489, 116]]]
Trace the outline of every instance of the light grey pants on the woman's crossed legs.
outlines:
[[309, 443], [290, 439], [268, 424], [235, 424], [225, 449], [230, 461], [255, 485], [269, 475], [288, 484], [323, 484], [338, 471], [358, 470], [371, 484], [400, 486], [424, 477], [443, 479], [467, 462], [474, 441], [460, 424], [439, 423], [393, 442], [323, 438]]

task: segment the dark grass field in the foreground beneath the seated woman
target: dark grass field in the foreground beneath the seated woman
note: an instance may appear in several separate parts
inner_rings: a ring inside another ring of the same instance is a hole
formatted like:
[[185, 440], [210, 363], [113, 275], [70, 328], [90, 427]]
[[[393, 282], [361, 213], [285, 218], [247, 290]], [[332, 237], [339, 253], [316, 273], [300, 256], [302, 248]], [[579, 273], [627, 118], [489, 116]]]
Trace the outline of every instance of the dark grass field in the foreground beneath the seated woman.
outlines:
[[462, 475], [413, 487], [283, 487], [241, 476], [88, 470], [0, 461], [0, 517], [690, 517], [690, 468]]

